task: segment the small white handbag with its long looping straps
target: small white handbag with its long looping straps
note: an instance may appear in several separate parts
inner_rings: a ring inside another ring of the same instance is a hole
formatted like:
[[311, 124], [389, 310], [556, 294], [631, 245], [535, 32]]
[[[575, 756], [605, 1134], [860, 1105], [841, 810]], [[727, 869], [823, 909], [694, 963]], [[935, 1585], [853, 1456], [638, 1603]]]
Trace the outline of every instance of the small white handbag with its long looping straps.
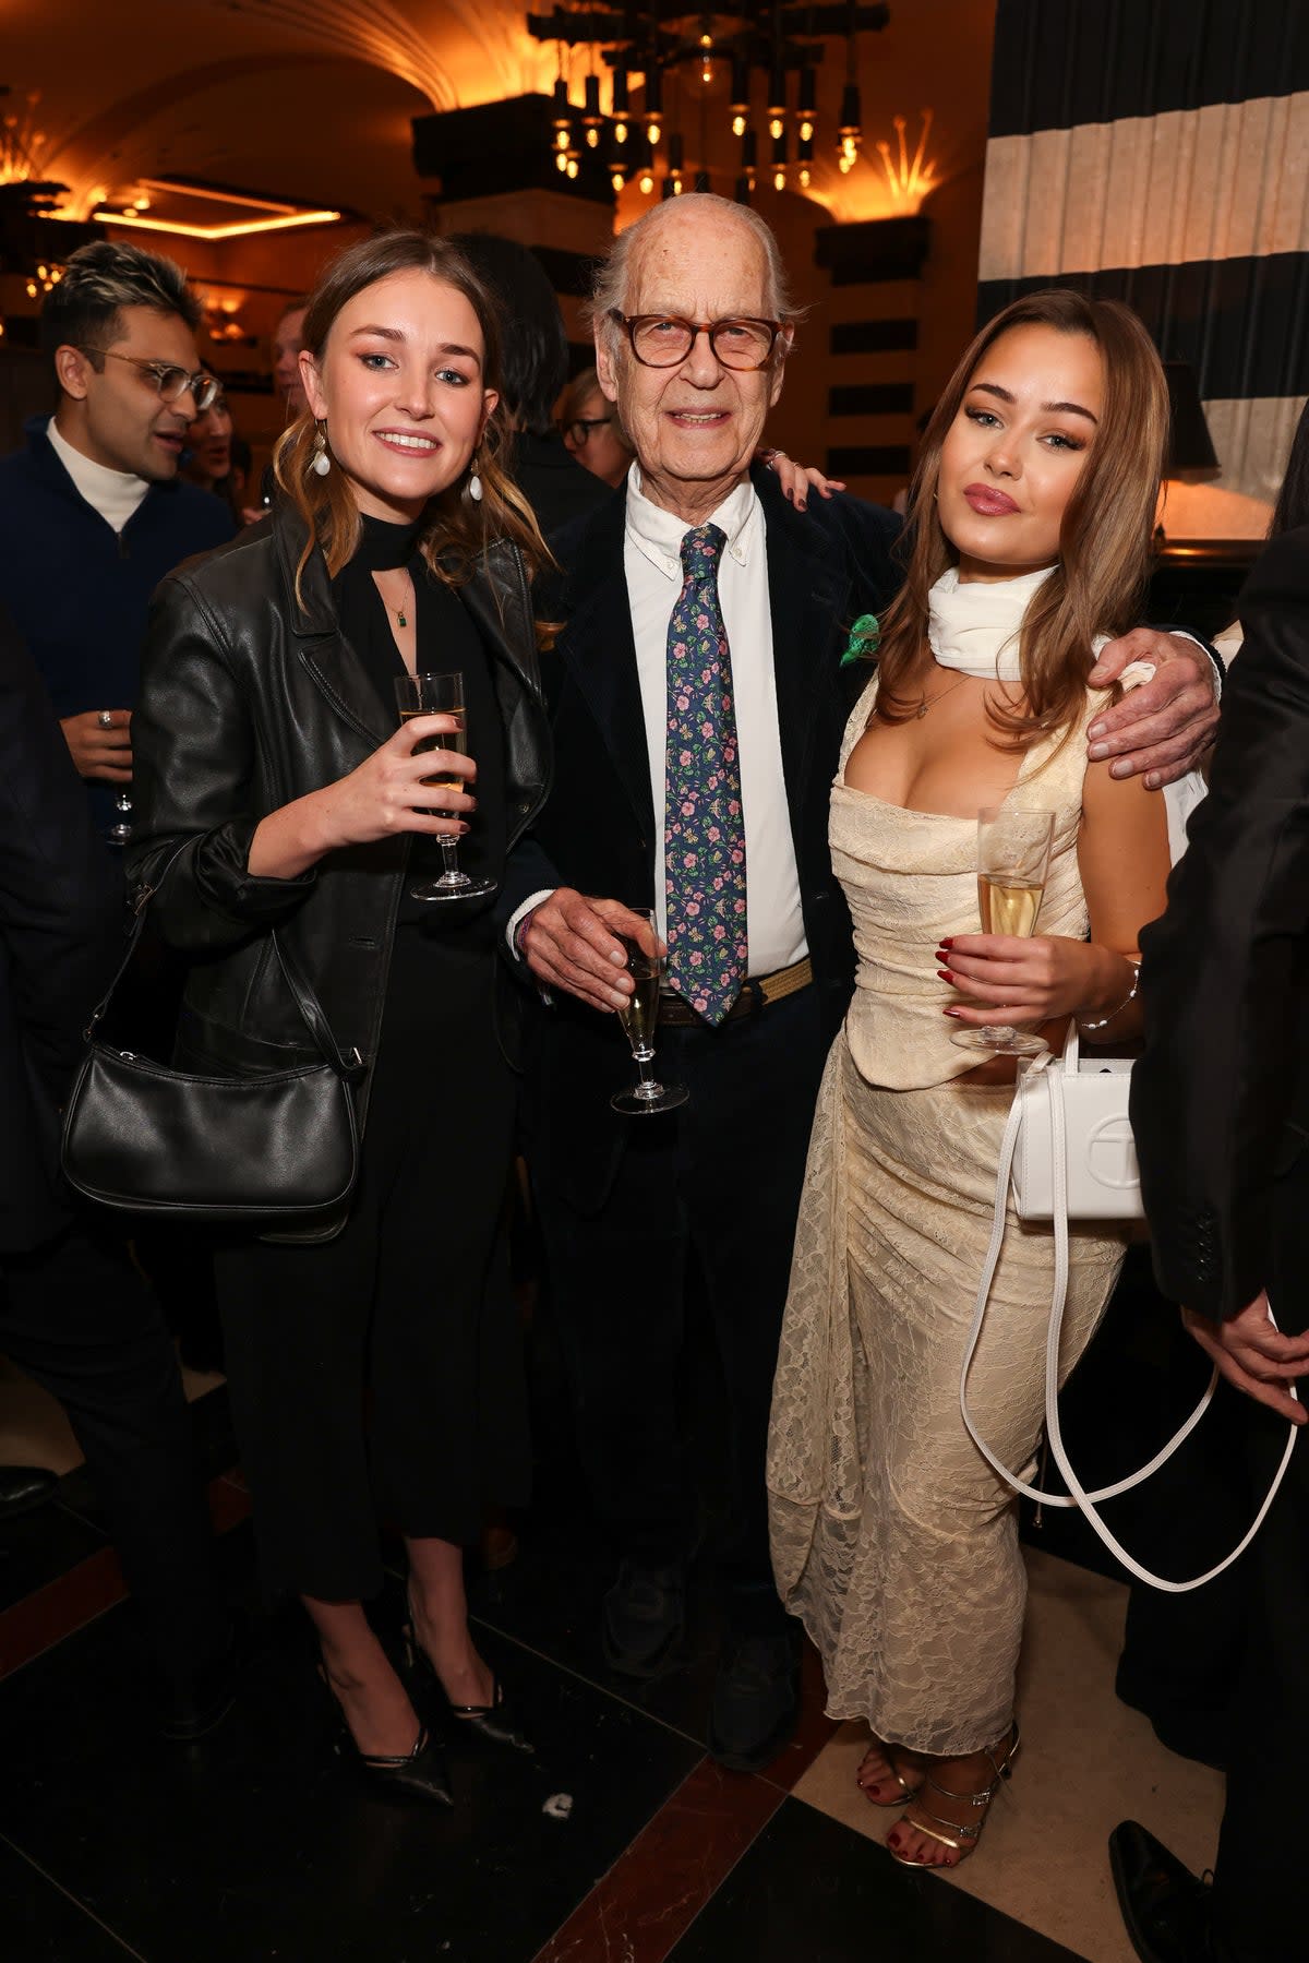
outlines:
[[[1154, 1455], [1150, 1464], [1140, 1468], [1140, 1472], [1130, 1472], [1113, 1486], [1101, 1486], [1099, 1492], [1087, 1492], [1068, 1462], [1064, 1433], [1060, 1429], [1060, 1335], [1064, 1329], [1064, 1303], [1068, 1300], [1068, 1221], [1125, 1221], [1144, 1217], [1140, 1205], [1136, 1148], [1126, 1115], [1130, 1086], [1132, 1066], [1126, 1058], [1105, 1058], [1103, 1064], [1097, 1060], [1089, 1066], [1081, 1064], [1079, 1068], [1075, 1025], [1070, 1027], [1062, 1060], [1056, 1062], [1052, 1056], [1038, 1056], [1019, 1078], [1015, 1099], [1009, 1109], [1009, 1123], [1005, 1125], [1005, 1137], [1001, 1141], [991, 1245], [987, 1248], [981, 1286], [977, 1288], [977, 1301], [973, 1307], [973, 1321], [968, 1331], [964, 1362], [960, 1368], [960, 1413], [973, 1445], [991, 1470], [999, 1472], [1007, 1486], [1024, 1494], [1028, 1500], [1040, 1500], [1042, 1506], [1079, 1508], [1111, 1555], [1115, 1555], [1115, 1559], [1121, 1561], [1123, 1566], [1136, 1576], [1136, 1580], [1148, 1582], [1152, 1588], [1162, 1588], [1166, 1594], [1187, 1594], [1191, 1588], [1203, 1588], [1205, 1582], [1211, 1582], [1215, 1574], [1230, 1568], [1232, 1561], [1244, 1555], [1246, 1547], [1264, 1525], [1268, 1508], [1278, 1496], [1278, 1488], [1282, 1486], [1282, 1478], [1291, 1460], [1291, 1451], [1295, 1449], [1299, 1427], [1287, 1423], [1287, 1441], [1282, 1453], [1282, 1462], [1278, 1464], [1264, 1504], [1260, 1506], [1254, 1523], [1240, 1545], [1234, 1547], [1225, 1561], [1219, 1561], [1217, 1566], [1187, 1582], [1164, 1580], [1160, 1574], [1152, 1574], [1148, 1568], [1142, 1568], [1140, 1563], [1134, 1561], [1121, 1541], [1117, 1541], [1109, 1531], [1097, 1513], [1097, 1506], [1103, 1500], [1115, 1500], [1121, 1492], [1130, 1492], [1132, 1486], [1140, 1486], [1152, 1472], [1158, 1472], [1164, 1460], [1172, 1459], [1181, 1441], [1191, 1435], [1209, 1409], [1219, 1382], [1217, 1368], [1209, 1376], [1209, 1388], [1187, 1421], [1174, 1433], [1168, 1445]], [[1050, 1301], [1050, 1327], [1046, 1333], [1046, 1439], [1050, 1443], [1050, 1457], [1068, 1482], [1068, 1494], [1042, 1492], [1038, 1486], [1028, 1486], [1015, 1472], [1009, 1472], [1009, 1468], [1001, 1464], [991, 1447], [979, 1435], [968, 1409], [968, 1372], [981, 1337], [981, 1323], [991, 1296], [991, 1282], [995, 1278], [1001, 1243], [1005, 1239], [1007, 1201], [1011, 1190], [1021, 1219], [1048, 1219], [1054, 1225], [1054, 1294]], [[1268, 1315], [1272, 1319], [1272, 1307]], [[1295, 1386], [1291, 1384], [1287, 1388], [1295, 1398]]]

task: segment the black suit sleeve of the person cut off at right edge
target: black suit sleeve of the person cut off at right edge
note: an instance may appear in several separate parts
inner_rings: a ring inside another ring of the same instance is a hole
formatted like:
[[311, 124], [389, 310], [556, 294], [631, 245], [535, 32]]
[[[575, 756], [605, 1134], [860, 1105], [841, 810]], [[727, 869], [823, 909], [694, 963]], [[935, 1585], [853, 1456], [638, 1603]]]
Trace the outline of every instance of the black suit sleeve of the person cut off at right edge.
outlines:
[[1264, 554], [1209, 797], [1142, 934], [1132, 1127], [1160, 1288], [1234, 1315], [1268, 1280], [1272, 1186], [1305, 1142], [1309, 530]]

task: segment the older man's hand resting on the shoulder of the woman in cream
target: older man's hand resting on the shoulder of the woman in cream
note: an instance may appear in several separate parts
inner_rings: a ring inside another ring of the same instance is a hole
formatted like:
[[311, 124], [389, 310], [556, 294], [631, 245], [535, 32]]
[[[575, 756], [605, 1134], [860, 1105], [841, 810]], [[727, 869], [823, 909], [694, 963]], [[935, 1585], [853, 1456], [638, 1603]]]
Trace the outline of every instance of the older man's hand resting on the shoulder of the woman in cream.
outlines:
[[1109, 642], [1087, 679], [1105, 689], [1132, 662], [1150, 662], [1154, 679], [1091, 722], [1089, 756], [1093, 764], [1113, 758], [1111, 777], [1144, 775], [1146, 789], [1160, 791], [1195, 769], [1213, 742], [1217, 675], [1205, 650], [1185, 634], [1138, 626]]

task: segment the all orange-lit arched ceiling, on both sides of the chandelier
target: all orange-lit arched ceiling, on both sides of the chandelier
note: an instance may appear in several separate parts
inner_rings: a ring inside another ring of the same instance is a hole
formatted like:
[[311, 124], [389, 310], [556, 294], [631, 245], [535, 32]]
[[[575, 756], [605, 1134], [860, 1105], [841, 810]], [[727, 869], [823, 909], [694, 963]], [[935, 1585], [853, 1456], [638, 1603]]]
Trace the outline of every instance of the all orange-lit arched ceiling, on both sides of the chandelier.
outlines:
[[[893, 0], [889, 27], [862, 47], [865, 143], [850, 177], [834, 161], [844, 59], [832, 45], [812, 196], [834, 216], [905, 208], [887, 185], [893, 118], [909, 118], [913, 151], [924, 98], [938, 112], [938, 181], [979, 163], [993, 4]], [[0, 82], [14, 90], [2, 110], [22, 114], [39, 92], [39, 175], [71, 186], [69, 216], [139, 177], [416, 216], [414, 116], [553, 82], [555, 49], [528, 35], [526, 12], [526, 0], [0, 0]], [[575, 98], [585, 63], [571, 59]], [[726, 75], [685, 86], [689, 157], [734, 173]]]

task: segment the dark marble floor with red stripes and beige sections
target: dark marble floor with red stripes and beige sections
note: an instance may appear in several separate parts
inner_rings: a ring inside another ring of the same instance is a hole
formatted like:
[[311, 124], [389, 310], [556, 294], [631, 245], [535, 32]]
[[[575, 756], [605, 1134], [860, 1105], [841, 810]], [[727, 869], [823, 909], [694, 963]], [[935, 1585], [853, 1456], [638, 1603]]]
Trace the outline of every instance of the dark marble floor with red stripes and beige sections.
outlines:
[[[141, 1716], [130, 1604], [49, 1400], [0, 1374], [0, 1460], [65, 1472], [0, 1525], [0, 1949], [6, 1963], [1130, 1963], [1105, 1837], [1142, 1818], [1213, 1857], [1221, 1778], [1113, 1694], [1125, 1588], [1028, 1551], [1024, 1743], [979, 1855], [915, 1875], [895, 1814], [856, 1790], [856, 1725], [822, 1716], [807, 1657], [797, 1741], [759, 1777], [705, 1755], [714, 1606], [634, 1688], [597, 1639], [606, 1563], [563, 1490], [471, 1598], [530, 1706], [538, 1755], [455, 1757], [449, 1816], [396, 1814], [343, 1777], [294, 1616], [257, 1612], [226, 1390], [192, 1378], [228, 1592], [255, 1618], [241, 1696], [188, 1751]], [[400, 1588], [379, 1610], [394, 1639]]]

